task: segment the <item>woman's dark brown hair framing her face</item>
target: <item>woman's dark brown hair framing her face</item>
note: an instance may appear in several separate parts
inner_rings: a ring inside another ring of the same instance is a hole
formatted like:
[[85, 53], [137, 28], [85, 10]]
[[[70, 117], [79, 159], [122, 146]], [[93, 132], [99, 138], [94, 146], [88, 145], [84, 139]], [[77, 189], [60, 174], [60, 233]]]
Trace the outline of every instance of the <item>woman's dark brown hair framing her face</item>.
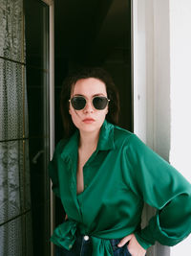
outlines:
[[119, 98], [117, 88], [112, 77], [104, 69], [99, 67], [81, 68], [75, 71], [73, 74], [70, 74], [64, 80], [62, 85], [60, 108], [64, 128], [64, 137], [66, 138], [70, 137], [76, 129], [71, 115], [69, 114], [69, 99], [71, 98], [71, 92], [74, 89], [74, 84], [78, 80], [89, 78], [95, 78], [105, 83], [107, 96], [108, 99], [110, 99], [106, 120], [114, 125], [117, 125], [118, 123]]

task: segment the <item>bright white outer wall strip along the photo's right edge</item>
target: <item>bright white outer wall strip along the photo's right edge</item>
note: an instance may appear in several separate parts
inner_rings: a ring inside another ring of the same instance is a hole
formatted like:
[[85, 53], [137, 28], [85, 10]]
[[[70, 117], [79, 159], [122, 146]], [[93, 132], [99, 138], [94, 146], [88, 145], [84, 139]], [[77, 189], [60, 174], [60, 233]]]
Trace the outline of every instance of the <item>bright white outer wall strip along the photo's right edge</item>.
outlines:
[[[170, 162], [191, 182], [191, 1], [170, 0]], [[191, 254], [191, 236], [172, 247], [172, 256]]]

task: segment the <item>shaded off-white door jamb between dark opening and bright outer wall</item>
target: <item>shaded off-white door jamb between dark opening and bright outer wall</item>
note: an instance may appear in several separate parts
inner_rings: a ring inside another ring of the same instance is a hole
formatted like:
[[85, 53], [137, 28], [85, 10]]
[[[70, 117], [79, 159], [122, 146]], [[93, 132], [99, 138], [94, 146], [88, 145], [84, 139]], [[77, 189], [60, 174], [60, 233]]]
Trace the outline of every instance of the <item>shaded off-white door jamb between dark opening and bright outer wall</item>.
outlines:
[[[167, 160], [170, 150], [168, 3], [167, 0], [133, 0], [134, 132]], [[143, 224], [153, 214], [146, 207]], [[156, 244], [147, 255], [168, 256], [169, 248]]]

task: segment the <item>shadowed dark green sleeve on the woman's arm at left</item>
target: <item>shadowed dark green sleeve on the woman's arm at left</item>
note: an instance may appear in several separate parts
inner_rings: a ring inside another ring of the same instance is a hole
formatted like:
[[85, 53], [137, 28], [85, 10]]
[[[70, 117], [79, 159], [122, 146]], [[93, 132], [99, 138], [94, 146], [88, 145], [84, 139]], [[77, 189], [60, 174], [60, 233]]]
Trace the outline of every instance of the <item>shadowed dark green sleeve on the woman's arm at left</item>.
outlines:
[[53, 193], [55, 196], [60, 198], [60, 191], [59, 191], [59, 179], [58, 179], [58, 168], [59, 168], [59, 160], [61, 149], [63, 148], [63, 140], [61, 140], [57, 145], [53, 152], [53, 159], [49, 163], [49, 176], [52, 179], [53, 185]]

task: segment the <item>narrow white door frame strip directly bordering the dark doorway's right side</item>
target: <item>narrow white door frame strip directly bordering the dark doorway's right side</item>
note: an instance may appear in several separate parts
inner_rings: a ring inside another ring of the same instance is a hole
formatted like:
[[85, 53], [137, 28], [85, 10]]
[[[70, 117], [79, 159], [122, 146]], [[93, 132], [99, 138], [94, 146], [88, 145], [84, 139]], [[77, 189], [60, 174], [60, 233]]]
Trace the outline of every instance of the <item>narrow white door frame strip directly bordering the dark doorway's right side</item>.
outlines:
[[134, 132], [146, 141], [146, 35], [145, 3], [132, 0], [133, 5], [133, 91]]

